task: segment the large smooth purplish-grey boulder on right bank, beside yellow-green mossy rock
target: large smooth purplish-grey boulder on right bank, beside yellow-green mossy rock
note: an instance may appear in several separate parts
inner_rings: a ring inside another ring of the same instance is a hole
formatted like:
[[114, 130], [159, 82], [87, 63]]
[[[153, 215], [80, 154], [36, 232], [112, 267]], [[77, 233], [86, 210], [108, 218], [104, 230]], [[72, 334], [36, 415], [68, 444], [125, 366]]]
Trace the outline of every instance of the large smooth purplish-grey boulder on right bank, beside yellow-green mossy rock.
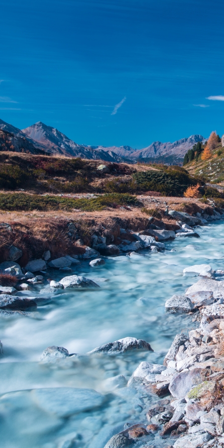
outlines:
[[201, 369], [187, 370], [178, 373], [169, 385], [169, 391], [175, 398], [184, 398], [187, 393], [197, 384], [202, 383]]

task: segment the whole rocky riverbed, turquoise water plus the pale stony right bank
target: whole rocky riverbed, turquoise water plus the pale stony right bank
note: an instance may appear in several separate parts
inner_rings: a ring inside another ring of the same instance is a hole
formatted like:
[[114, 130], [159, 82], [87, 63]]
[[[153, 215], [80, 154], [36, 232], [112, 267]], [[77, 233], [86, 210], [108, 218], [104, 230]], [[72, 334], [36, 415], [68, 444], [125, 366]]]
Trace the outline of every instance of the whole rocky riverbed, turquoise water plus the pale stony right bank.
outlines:
[[3, 448], [224, 446], [224, 224], [174, 213], [176, 230], [94, 233], [24, 267], [12, 246]]

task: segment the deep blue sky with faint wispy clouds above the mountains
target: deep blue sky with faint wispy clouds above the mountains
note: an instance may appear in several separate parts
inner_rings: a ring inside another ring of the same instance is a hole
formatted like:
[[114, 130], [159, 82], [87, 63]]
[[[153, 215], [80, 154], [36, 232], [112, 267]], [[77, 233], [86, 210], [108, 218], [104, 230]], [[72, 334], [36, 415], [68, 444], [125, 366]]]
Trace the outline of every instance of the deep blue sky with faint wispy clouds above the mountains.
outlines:
[[207, 99], [224, 100], [222, 0], [0, 0], [0, 13], [1, 119], [133, 148], [224, 133], [224, 101]]

